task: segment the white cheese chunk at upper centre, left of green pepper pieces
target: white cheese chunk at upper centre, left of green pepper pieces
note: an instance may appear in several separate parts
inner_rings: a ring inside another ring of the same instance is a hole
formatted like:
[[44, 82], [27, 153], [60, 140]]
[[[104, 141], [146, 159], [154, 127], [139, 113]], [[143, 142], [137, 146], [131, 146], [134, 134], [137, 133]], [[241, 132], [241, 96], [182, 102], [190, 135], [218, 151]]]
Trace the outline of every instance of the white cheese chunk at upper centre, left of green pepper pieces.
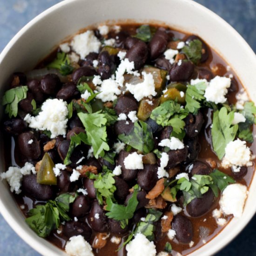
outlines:
[[155, 96], [155, 81], [153, 75], [150, 73], [142, 72], [144, 81], [138, 84], [126, 84], [128, 91], [134, 95], [137, 101], [141, 101], [142, 98], [150, 95]]

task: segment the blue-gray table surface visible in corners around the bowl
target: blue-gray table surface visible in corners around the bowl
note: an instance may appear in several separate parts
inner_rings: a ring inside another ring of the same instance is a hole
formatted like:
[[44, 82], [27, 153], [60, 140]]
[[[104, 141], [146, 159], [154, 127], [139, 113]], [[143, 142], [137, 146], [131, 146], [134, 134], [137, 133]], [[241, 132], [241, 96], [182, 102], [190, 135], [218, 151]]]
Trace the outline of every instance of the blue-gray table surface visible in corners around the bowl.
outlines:
[[[0, 0], [0, 51], [21, 27], [61, 0]], [[196, 0], [208, 7], [243, 36], [256, 52], [256, 0]], [[0, 215], [0, 256], [39, 256]], [[217, 256], [256, 256], [256, 216]]]

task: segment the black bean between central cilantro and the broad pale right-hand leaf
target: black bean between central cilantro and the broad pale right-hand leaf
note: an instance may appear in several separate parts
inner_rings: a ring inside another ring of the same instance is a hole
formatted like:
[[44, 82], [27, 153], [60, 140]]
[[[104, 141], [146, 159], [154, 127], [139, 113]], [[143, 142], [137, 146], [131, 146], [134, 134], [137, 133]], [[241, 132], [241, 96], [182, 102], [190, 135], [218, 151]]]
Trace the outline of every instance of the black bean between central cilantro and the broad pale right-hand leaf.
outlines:
[[203, 115], [201, 112], [198, 112], [197, 115], [189, 114], [184, 121], [186, 123], [186, 126], [185, 126], [186, 135], [189, 138], [194, 138], [200, 133], [203, 122], [204, 122]]

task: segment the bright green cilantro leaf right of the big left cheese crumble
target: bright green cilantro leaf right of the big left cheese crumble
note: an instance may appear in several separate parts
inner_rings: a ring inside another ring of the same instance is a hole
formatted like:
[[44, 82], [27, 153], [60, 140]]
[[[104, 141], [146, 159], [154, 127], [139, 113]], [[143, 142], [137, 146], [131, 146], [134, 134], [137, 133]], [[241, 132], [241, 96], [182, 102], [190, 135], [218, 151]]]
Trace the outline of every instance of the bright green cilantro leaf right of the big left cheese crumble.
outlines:
[[77, 115], [86, 130], [86, 144], [93, 147], [95, 158], [104, 156], [104, 150], [109, 150], [106, 131], [107, 118], [104, 114], [101, 114], [101, 111], [92, 114], [80, 112]]

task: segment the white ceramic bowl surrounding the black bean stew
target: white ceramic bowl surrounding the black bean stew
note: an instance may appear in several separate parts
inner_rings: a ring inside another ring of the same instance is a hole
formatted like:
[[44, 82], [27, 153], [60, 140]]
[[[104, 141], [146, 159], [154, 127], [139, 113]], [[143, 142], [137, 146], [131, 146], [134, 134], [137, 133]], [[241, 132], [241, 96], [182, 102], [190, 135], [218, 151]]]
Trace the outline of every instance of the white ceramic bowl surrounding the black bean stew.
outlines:
[[[160, 21], [198, 34], [229, 63], [251, 99], [256, 101], [256, 55], [229, 24], [192, 0], [65, 0], [49, 8], [22, 28], [0, 54], [0, 97], [7, 89], [10, 74], [32, 69], [67, 36], [93, 23], [128, 19]], [[3, 143], [0, 145], [0, 170], [3, 171]], [[191, 256], [209, 256], [229, 243], [255, 214], [255, 198], [256, 177], [242, 218], [234, 218], [218, 236]], [[0, 211], [16, 233], [42, 255], [66, 255], [27, 226], [6, 182], [0, 182]]]

